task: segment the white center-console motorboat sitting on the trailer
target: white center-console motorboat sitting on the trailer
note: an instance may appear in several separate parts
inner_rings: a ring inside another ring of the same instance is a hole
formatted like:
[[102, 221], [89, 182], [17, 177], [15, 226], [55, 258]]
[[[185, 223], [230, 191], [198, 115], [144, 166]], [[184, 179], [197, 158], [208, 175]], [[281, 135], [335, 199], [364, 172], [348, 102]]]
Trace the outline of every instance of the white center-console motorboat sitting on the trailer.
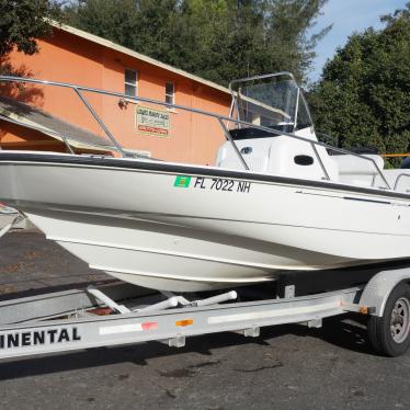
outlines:
[[410, 258], [405, 170], [318, 143], [288, 73], [235, 82], [232, 95], [229, 118], [205, 114], [227, 137], [212, 167], [3, 150], [0, 201], [90, 267], [160, 291]]

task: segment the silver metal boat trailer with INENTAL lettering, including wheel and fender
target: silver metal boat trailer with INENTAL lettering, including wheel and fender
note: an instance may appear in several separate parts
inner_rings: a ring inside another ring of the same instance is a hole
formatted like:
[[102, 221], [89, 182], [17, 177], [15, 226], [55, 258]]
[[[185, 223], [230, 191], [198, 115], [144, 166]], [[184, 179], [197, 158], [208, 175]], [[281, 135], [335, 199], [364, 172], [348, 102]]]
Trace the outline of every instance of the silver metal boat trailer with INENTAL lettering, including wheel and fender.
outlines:
[[235, 291], [190, 301], [126, 283], [69, 289], [0, 303], [0, 358], [162, 341], [185, 345], [187, 337], [234, 331], [255, 338], [266, 326], [301, 323], [346, 312], [367, 315], [369, 340], [398, 356], [410, 344], [410, 269], [380, 271], [366, 284], [341, 291], [238, 300]]

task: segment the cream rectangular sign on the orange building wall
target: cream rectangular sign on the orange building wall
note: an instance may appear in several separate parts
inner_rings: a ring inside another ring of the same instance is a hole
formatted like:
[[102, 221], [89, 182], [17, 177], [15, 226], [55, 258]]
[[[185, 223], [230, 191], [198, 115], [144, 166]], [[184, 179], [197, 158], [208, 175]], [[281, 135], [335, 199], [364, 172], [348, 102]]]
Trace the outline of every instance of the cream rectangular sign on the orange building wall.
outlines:
[[136, 109], [136, 127], [140, 134], [168, 137], [170, 133], [170, 113], [138, 105]]

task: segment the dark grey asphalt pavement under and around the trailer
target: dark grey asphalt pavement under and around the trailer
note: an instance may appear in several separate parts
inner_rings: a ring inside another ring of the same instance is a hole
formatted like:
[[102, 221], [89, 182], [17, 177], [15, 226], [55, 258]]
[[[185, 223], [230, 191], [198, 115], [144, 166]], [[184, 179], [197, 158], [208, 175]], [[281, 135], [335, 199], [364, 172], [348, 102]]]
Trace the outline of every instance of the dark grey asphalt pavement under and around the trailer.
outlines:
[[[41, 234], [0, 239], [0, 300], [109, 277]], [[410, 353], [377, 356], [355, 317], [0, 362], [0, 409], [410, 409]]]

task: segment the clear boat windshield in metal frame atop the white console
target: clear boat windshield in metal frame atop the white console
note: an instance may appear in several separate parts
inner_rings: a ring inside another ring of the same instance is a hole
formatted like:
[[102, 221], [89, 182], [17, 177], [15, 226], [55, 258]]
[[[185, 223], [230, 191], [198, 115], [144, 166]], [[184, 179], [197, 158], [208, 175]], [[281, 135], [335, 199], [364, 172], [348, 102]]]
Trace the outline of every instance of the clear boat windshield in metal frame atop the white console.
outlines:
[[[292, 75], [232, 81], [230, 89], [234, 99], [231, 115], [236, 114], [240, 121], [285, 133], [312, 126], [306, 101]], [[234, 134], [246, 134], [241, 128], [241, 133]], [[254, 132], [254, 128], [247, 129]]]

